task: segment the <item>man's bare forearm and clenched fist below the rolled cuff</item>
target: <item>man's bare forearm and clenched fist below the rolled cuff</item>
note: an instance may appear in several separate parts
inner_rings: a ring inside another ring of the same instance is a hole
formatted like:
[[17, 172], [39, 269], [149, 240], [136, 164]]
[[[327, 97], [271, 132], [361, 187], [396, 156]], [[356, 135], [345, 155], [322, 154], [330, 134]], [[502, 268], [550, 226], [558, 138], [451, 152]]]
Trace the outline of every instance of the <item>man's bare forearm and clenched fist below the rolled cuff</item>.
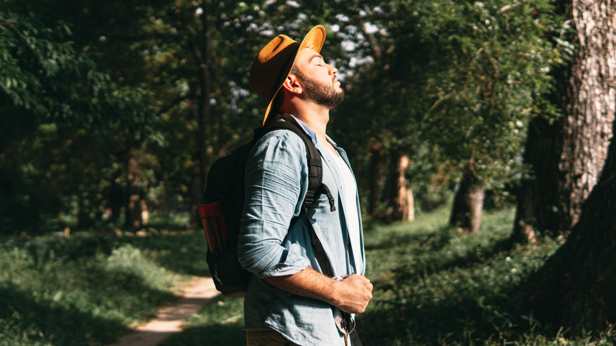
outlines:
[[268, 277], [265, 281], [283, 291], [318, 299], [345, 312], [362, 313], [372, 299], [372, 284], [361, 275], [336, 281], [308, 267], [293, 275]]

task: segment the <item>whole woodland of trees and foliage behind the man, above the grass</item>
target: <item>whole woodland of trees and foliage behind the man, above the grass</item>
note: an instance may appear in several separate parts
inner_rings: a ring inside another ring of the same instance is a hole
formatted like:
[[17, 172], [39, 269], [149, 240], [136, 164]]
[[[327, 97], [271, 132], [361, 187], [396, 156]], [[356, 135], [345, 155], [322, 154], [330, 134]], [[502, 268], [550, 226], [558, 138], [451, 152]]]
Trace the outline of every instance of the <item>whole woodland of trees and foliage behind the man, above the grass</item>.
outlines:
[[559, 246], [508, 302], [610, 331], [615, 23], [611, 0], [0, 0], [3, 249], [200, 227], [209, 166], [261, 123], [256, 53], [322, 24], [367, 229], [515, 210], [495, 253]]

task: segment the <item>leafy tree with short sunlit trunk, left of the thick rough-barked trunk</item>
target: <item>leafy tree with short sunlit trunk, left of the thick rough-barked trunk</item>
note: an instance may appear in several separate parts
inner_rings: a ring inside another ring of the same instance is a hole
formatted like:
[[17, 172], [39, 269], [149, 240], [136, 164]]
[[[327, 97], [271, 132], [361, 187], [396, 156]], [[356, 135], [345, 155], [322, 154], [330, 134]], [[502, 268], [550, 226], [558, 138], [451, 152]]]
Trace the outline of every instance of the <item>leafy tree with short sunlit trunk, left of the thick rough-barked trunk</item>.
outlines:
[[476, 232], [485, 188], [503, 189], [521, 171], [525, 125], [562, 60], [551, 37], [561, 24], [548, 1], [430, 6], [439, 4], [426, 5], [433, 15], [418, 25], [431, 48], [422, 94], [431, 104], [420, 124], [461, 173], [451, 224]]

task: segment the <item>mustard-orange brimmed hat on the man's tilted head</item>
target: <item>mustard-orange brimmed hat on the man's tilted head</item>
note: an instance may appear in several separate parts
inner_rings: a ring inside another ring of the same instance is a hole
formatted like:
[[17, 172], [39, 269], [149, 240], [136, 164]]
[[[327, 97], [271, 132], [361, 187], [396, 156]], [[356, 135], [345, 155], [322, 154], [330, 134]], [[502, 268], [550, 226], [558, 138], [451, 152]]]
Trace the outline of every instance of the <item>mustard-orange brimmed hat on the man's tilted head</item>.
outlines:
[[310, 48], [320, 52], [325, 42], [325, 28], [317, 25], [310, 29], [301, 43], [286, 35], [278, 35], [261, 49], [250, 68], [250, 88], [269, 101], [263, 125], [268, 120], [274, 98], [293, 67], [299, 49]]

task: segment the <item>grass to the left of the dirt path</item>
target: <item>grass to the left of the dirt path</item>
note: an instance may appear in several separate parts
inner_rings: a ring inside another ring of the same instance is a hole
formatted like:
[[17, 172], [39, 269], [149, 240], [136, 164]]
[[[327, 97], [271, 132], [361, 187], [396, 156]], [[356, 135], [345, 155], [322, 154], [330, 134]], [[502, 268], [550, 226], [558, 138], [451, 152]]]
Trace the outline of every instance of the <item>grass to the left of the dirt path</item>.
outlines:
[[0, 345], [113, 342], [208, 275], [198, 231], [0, 242]]

